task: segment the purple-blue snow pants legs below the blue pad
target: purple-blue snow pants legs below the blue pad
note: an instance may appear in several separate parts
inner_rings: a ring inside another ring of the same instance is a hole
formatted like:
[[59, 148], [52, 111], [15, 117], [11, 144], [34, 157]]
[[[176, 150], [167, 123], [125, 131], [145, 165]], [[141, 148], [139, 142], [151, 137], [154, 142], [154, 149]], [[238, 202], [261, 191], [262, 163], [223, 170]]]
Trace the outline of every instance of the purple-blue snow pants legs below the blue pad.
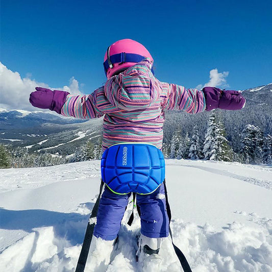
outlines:
[[[105, 186], [98, 207], [94, 236], [104, 240], [113, 240], [117, 237], [129, 198], [130, 193], [115, 194]], [[150, 238], [167, 237], [169, 219], [166, 212], [164, 185], [161, 184], [151, 194], [137, 194], [136, 202], [141, 212], [141, 233]]]

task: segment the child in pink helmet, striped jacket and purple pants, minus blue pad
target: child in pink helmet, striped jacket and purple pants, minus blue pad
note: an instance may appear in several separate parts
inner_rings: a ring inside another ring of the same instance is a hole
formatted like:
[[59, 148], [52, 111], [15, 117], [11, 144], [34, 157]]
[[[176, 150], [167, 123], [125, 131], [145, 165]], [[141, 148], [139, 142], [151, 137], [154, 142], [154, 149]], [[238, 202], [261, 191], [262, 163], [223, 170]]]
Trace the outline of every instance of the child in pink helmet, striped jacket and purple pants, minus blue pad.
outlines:
[[[164, 110], [195, 114], [216, 108], [239, 110], [245, 104], [238, 91], [215, 87], [185, 89], [160, 82], [154, 77], [152, 65], [153, 58], [142, 44], [130, 39], [119, 40], [109, 46], [105, 54], [104, 68], [108, 79], [105, 86], [89, 95], [70, 95], [65, 91], [36, 87], [37, 91], [30, 95], [30, 103], [64, 116], [88, 119], [104, 115], [103, 150], [121, 142], [146, 142], [162, 149]], [[158, 254], [161, 239], [168, 236], [163, 194], [161, 185], [151, 194], [137, 195], [141, 211], [139, 249], [151, 256]], [[130, 194], [119, 195], [105, 188], [94, 237], [113, 245], [129, 198]], [[95, 247], [96, 240], [93, 239], [91, 248]]]

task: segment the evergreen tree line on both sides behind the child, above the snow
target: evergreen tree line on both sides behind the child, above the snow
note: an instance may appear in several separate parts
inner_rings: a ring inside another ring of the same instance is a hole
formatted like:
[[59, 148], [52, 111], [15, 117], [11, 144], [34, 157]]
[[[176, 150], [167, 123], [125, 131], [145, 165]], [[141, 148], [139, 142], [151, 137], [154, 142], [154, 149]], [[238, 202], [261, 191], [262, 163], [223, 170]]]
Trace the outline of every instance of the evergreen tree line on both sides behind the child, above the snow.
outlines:
[[[245, 125], [243, 130], [233, 127], [231, 137], [227, 135], [220, 112], [212, 111], [207, 122], [206, 133], [196, 125], [189, 134], [170, 127], [172, 137], [164, 138], [163, 154], [171, 159], [204, 159], [213, 161], [272, 164], [272, 136], [264, 134], [261, 128]], [[240, 132], [241, 131], [241, 132]], [[167, 131], [169, 135], [169, 131]], [[102, 138], [96, 143], [88, 140], [70, 156], [56, 156], [50, 153], [30, 153], [24, 147], [0, 145], [0, 168], [42, 167], [99, 160], [102, 157]]]

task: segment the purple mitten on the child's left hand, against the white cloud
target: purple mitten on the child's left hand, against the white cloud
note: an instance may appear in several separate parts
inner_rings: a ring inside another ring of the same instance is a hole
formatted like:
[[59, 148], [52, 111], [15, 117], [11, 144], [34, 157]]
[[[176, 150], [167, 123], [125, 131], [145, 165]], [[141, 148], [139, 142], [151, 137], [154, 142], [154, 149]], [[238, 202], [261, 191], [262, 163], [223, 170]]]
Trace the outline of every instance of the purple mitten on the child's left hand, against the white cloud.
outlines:
[[69, 92], [52, 91], [42, 87], [36, 87], [35, 89], [36, 91], [32, 92], [29, 97], [29, 102], [32, 106], [61, 113], [61, 108], [66, 101], [66, 96], [70, 94]]

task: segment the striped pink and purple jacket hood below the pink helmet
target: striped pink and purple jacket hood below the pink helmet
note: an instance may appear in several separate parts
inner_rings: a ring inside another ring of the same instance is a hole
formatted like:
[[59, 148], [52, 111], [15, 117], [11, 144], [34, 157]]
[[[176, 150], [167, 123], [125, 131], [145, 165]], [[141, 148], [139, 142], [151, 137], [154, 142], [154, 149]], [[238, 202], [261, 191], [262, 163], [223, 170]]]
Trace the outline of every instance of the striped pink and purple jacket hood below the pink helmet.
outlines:
[[145, 109], [157, 101], [162, 92], [151, 71], [152, 62], [146, 58], [117, 76], [104, 86], [108, 100], [114, 106], [132, 111]]

